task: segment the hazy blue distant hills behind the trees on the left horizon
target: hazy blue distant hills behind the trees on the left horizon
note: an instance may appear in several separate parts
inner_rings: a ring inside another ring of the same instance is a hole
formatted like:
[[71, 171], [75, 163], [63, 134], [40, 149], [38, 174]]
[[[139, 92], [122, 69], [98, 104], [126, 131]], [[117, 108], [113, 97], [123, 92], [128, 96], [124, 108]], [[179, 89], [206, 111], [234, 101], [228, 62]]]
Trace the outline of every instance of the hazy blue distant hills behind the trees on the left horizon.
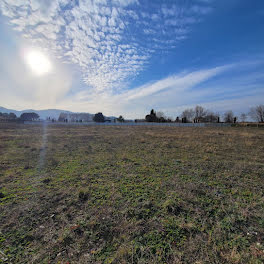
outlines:
[[[71, 112], [71, 111], [67, 111], [67, 110], [60, 110], [60, 109], [44, 109], [44, 110], [34, 110], [34, 109], [26, 109], [26, 110], [14, 110], [14, 109], [7, 109], [5, 107], [1, 107], [0, 106], [0, 112], [1, 113], [14, 113], [16, 114], [17, 117], [20, 117], [21, 114], [23, 113], [29, 113], [29, 112], [34, 112], [36, 114], [38, 114], [40, 116], [41, 119], [46, 119], [48, 117], [55, 118], [58, 119], [61, 113], [65, 113], [65, 114], [80, 114], [77, 112]], [[94, 114], [90, 114], [90, 113], [85, 113], [85, 114], [89, 114], [91, 116], [94, 116]], [[111, 117], [106, 117], [108, 119], [114, 119], [114, 116]]]

